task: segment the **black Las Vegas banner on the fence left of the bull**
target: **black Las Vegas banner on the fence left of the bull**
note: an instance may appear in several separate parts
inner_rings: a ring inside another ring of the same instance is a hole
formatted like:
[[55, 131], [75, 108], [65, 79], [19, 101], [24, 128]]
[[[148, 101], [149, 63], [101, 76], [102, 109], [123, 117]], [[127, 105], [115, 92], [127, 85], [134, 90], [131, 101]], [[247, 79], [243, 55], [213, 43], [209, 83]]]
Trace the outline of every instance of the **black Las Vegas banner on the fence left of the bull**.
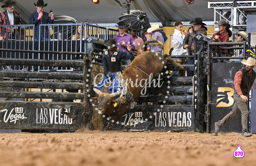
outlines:
[[63, 129], [84, 127], [84, 105], [79, 103], [0, 102], [0, 126], [10, 129]]

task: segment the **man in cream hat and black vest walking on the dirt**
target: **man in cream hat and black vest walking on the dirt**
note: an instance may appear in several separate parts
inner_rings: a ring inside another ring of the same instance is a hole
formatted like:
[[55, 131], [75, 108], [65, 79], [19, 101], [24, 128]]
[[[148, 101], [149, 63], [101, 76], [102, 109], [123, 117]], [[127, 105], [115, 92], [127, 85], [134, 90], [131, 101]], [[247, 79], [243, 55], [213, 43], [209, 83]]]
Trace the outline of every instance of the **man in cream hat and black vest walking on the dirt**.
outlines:
[[247, 118], [249, 115], [249, 111], [246, 106], [246, 101], [248, 100], [248, 95], [250, 90], [252, 89], [252, 84], [256, 78], [256, 72], [253, 70], [255, 64], [255, 59], [249, 57], [247, 60], [242, 60], [242, 63], [245, 64], [245, 68], [238, 70], [235, 78], [234, 78], [234, 86], [235, 86], [235, 94], [233, 95], [234, 98], [234, 106], [232, 111], [226, 115], [222, 120], [219, 120], [215, 123], [215, 135], [218, 135], [220, 128], [229, 122], [231, 119], [236, 117], [241, 111], [242, 113], [242, 136], [243, 137], [250, 137], [252, 134], [248, 132], [247, 128]]

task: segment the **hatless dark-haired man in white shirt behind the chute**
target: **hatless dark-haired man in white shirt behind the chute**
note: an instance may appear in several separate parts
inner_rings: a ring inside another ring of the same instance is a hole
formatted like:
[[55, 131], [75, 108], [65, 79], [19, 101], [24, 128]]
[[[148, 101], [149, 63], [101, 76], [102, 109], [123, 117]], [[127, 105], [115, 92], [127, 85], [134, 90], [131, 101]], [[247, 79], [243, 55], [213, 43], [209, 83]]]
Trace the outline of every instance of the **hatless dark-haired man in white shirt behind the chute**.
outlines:
[[[187, 55], [187, 51], [183, 48], [183, 39], [185, 37], [185, 34], [182, 32], [183, 24], [180, 21], [177, 21], [174, 23], [175, 29], [173, 33], [173, 51], [172, 55]], [[186, 32], [185, 32], [186, 33]], [[180, 59], [180, 58], [173, 58], [174, 60]], [[180, 60], [182, 63], [184, 63], [185, 58], [181, 58]], [[180, 76], [185, 76], [185, 70], [181, 71], [173, 71], [172, 76], [178, 76], [180, 73]]]

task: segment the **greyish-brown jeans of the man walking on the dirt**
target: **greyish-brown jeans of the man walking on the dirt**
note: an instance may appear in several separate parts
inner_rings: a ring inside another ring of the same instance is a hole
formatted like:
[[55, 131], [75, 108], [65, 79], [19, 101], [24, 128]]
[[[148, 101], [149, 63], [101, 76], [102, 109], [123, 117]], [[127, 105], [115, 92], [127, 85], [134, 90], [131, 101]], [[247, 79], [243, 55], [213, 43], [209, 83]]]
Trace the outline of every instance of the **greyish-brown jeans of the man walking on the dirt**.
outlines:
[[243, 99], [240, 97], [239, 94], [235, 93], [233, 95], [233, 97], [234, 97], [235, 104], [234, 104], [234, 107], [233, 107], [232, 111], [230, 111], [230, 113], [227, 114], [222, 120], [219, 120], [216, 123], [216, 125], [218, 126], [218, 128], [221, 128], [228, 121], [230, 121], [231, 119], [236, 117], [238, 115], [238, 112], [241, 111], [241, 113], [242, 113], [242, 120], [241, 120], [241, 123], [242, 123], [242, 134], [244, 134], [246, 131], [248, 131], [247, 119], [248, 119], [249, 111], [247, 109], [245, 101], [243, 101]]

